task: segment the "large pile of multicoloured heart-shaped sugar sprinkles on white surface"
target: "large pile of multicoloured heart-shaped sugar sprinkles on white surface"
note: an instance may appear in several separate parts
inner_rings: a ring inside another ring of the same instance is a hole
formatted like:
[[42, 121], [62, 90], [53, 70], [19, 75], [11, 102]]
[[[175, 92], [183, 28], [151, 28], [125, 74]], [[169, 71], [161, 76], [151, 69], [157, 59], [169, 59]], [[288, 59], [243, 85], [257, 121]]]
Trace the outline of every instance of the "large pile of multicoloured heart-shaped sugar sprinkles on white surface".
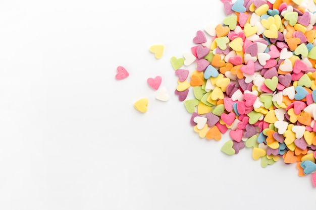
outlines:
[[171, 58], [175, 94], [201, 138], [229, 133], [222, 152], [252, 148], [262, 167], [296, 164], [316, 186], [316, 1], [221, 1], [223, 23], [197, 31], [190, 52]]

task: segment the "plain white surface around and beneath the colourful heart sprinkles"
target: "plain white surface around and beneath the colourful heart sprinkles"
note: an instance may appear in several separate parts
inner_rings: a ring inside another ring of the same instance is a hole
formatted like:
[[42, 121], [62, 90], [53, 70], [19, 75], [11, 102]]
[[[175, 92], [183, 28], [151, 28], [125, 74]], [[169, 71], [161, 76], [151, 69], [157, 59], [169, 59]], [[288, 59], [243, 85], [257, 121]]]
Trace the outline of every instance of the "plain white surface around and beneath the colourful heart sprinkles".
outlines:
[[[220, 1], [0, 3], [0, 209], [314, 209], [310, 176], [227, 156], [173, 94], [171, 56], [224, 17]], [[146, 84], [157, 75], [168, 102]]]

